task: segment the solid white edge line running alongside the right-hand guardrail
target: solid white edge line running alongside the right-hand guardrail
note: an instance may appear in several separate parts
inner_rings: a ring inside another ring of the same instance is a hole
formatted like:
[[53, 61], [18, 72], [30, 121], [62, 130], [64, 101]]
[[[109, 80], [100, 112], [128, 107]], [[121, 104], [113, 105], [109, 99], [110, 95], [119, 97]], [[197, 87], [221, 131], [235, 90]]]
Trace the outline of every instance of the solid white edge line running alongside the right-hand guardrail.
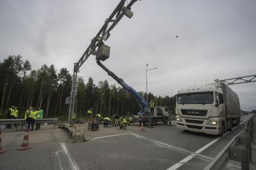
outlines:
[[[250, 117], [246, 118], [246, 120], [248, 120]], [[245, 123], [244, 120], [242, 123], [239, 124], [239, 126], [243, 123]], [[236, 129], [238, 126], [234, 127], [232, 130]], [[227, 135], [230, 132], [225, 133], [222, 137], [224, 137], [225, 135]], [[204, 147], [200, 148], [199, 150], [195, 151], [195, 153], [190, 154], [189, 156], [185, 157], [183, 160], [180, 160], [178, 163], [175, 163], [174, 165], [172, 165], [170, 168], [166, 169], [166, 170], [175, 170], [180, 168], [180, 166], [182, 166], [184, 163], [189, 162], [190, 159], [192, 159], [193, 157], [197, 156], [197, 154], [200, 154], [202, 151], [206, 150], [206, 148], [210, 147], [210, 145], [214, 144], [215, 142], [219, 141], [219, 139], [221, 139], [222, 137], [218, 137], [215, 140], [213, 140], [212, 142], [210, 142], [209, 144], [204, 145]]]

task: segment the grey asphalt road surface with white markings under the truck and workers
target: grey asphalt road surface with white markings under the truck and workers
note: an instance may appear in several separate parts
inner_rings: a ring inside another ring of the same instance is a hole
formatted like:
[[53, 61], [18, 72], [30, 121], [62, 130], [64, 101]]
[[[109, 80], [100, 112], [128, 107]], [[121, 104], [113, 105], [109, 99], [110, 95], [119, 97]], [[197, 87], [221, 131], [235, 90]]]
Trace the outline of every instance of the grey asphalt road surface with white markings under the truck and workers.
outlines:
[[[243, 116], [241, 122], [250, 115]], [[3, 130], [0, 169], [203, 169], [234, 138], [245, 123], [223, 137], [183, 132], [173, 126], [158, 124], [154, 129], [139, 125], [127, 130], [100, 127], [88, 131], [94, 138], [83, 143], [66, 142], [69, 136], [61, 129], [41, 126], [29, 132], [31, 149], [18, 151], [24, 132]], [[86, 124], [81, 129], [86, 129]], [[240, 169], [230, 162], [227, 169]]]

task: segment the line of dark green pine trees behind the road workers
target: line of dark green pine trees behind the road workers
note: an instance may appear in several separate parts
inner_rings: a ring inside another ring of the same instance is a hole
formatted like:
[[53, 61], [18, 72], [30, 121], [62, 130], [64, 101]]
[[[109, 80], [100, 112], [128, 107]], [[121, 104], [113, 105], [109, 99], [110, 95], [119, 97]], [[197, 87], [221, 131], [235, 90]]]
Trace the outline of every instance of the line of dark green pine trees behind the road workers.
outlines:
[[[20, 55], [10, 55], [0, 62], [0, 80], [0, 117], [5, 117], [10, 106], [17, 106], [20, 115], [24, 115], [29, 106], [42, 108], [44, 117], [68, 114], [65, 102], [66, 97], [70, 96], [72, 75], [67, 68], [57, 71], [53, 64], [43, 64], [37, 70], [32, 70], [27, 59], [24, 61]], [[139, 93], [146, 96], [145, 92]], [[150, 100], [156, 106], [169, 106], [174, 113], [174, 97], [148, 93]], [[138, 103], [124, 88], [109, 85], [107, 80], [96, 85], [92, 77], [87, 82], [78, 77], [76, 115], [85, 116], [90, 108], [94, 109], [94, 114], [102, 115], [133, 115], [139, 112]]]

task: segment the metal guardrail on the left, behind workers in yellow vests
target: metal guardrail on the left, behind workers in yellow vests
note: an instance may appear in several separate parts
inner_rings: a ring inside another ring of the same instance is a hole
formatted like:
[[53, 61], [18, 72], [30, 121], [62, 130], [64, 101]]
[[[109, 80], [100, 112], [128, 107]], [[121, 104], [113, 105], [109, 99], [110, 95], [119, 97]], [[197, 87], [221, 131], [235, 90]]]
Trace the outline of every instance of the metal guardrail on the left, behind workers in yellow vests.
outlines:
[[[1, 124], [21, 124], [23, 129], [23, 124], [27, 124], [28, 122], [25, 119], [0, 119]], [[55, 129], [55, 125], [58, 123], [58, 118], [47, 118], [47, 119], [37, 119], [35, 123], [53, 123], [53, 128]]]

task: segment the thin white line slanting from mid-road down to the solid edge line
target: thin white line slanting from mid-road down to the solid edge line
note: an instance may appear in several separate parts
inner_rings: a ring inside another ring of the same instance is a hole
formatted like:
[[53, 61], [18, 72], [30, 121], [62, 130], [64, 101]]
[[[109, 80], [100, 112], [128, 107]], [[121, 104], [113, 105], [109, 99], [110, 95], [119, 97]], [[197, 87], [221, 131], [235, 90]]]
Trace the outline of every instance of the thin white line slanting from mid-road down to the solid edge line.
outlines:
[[[130, 133], [131, 135], [134, 135], [136, 136], [137, 138], [141, 138], [141, 139], [147, 139], [148, 141], [152, 142], [153, 144], [156, 144], [156, 145], [159, 145], [159, 146], [162, 146], [162, 147], [166, 147], [166, 148], [169, 148], [169, 149], [172, 149], [172, 150], [175, 150], [175, 151], [180, 151], [181, 153], [189, 153], [189, 154], [195, 154], [193, 153], [192, 151], [188, 151], [188, 150], [184, 150], [182, 148], [178, 148], [178, 147], [174, 147], [172, 145], [169, 145], [169, 144], [165, 144], [163, 142], [159, 142], [159, 141], [156, 141], [156, 140], [153, 140], [153, 139], [150, 139], [150, 138], [146, 138], [144, 136], [141, 136], [141, 135], [137, 135], [135, 133]], [[202, 159], [201, 157], [203, 157], [203, 159], [209, 159], [209, 160], [212, 160], [211, 157], [207, 157], [207, 156], [203, 156], [201, 154], [197, 154], [198, 158], [199, 159]]]

